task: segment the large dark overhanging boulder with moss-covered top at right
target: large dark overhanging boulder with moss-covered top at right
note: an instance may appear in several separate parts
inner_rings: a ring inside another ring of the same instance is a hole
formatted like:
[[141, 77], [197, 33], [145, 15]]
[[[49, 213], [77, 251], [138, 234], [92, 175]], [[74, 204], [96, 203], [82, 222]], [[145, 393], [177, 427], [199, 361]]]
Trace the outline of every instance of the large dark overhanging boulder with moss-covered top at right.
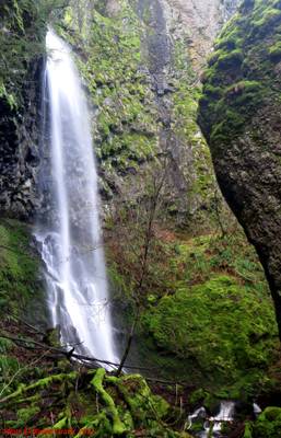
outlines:
[[281, 2], [247, 0], [204, 74], [199, 122], [221, 189], [265, 267], [281, 333]]

